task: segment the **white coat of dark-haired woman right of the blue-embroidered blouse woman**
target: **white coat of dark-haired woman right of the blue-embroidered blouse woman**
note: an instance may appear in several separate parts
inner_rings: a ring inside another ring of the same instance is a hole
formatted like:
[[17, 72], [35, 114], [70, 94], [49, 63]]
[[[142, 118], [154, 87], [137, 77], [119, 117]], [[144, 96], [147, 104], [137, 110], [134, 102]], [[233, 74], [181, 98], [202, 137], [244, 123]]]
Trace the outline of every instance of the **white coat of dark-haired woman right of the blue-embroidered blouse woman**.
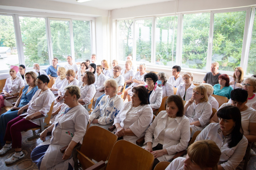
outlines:
[[[135, 135], [125, 135], [124, 140], [136, 144], [136, 141], [145, 135], [153, 119], [153, 110], [149, 104], [145, 104], [144, 106], [140, 105], [138, 107], [132, 106], [132, 102], [125, 103], [124, 107], [114, 119], [114, 124], [120, 123], [120, 126], [124, 129], [131, 129]], [[113, 133], [116, 131], [115, 129]]]

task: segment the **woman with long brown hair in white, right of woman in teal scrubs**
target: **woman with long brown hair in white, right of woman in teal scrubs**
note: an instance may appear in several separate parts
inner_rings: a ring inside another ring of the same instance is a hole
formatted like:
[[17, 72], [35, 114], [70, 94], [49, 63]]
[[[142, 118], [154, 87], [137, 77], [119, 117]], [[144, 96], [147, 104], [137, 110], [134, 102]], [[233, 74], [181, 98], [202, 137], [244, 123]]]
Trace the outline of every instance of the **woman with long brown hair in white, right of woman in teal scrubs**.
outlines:
[[244, 82], [244, 70], [242, 67], [236, 67], [234, 75], [229, 77], [230, 86], [235, 88], [243, 88], [242, 83]]

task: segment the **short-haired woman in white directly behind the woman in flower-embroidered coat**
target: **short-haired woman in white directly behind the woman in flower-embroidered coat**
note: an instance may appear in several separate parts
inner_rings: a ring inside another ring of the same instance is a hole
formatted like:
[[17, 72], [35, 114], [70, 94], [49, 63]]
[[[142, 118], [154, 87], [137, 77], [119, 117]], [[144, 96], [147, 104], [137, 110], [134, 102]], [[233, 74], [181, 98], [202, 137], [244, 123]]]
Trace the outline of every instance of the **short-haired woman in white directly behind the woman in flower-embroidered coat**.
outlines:
[[56, 108], [58, 106], [60, 106], [63, 102], [63, 96], [65, 94], [65, 87], [67, 86], [71, 86], [71, 85], [79, 85], [79, 81], [77, 79], [75, 79], [75, 71], [70, 69], [66, 72], [66, 79], [64, 80], [63, 84], [61, 85], [61, 87], [59, 88], [58, 92], [58, 96], [55, 98], [55, 102], [54, 102], [54, 106], [53, 106], [53, 111], [56, 110]]

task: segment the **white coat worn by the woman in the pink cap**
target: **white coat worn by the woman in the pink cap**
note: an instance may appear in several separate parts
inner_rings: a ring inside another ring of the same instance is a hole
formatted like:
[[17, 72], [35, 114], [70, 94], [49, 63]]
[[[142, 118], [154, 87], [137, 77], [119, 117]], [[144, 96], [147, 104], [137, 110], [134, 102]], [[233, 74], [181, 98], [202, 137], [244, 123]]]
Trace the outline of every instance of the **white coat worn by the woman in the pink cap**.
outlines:
[[[10, 77], [6, 79], [3, 91], [6, 91], [12, 95], [17, 92], [19, 93], [22, 87], [24, 87], [24, 81], [22, 80], [22, 78], [16, 76], [16, 78], [12, 80], [12, 78]], [[13, 102], [13, 100], [4, 100], [4, 106], [12, 106]]]

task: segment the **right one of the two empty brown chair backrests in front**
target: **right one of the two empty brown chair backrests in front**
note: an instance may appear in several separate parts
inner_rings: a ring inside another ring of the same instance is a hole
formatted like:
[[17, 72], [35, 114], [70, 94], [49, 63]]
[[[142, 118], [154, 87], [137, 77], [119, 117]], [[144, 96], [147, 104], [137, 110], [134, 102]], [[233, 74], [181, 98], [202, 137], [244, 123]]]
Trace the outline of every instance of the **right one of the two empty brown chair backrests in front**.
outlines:
[[117, 141], [110, 153], [106, 170], [151, 170], [154, 155], [131, 142]]

